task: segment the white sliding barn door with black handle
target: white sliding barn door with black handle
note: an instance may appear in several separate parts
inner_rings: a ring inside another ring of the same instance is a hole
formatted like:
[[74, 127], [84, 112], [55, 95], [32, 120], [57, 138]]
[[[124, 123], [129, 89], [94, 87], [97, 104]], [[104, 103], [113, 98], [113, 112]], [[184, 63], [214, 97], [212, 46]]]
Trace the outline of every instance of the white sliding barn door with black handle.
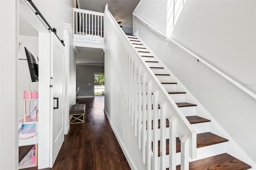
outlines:
[[64, 142], [64, 46], [51, 32], [50, 54], [50, 168]]

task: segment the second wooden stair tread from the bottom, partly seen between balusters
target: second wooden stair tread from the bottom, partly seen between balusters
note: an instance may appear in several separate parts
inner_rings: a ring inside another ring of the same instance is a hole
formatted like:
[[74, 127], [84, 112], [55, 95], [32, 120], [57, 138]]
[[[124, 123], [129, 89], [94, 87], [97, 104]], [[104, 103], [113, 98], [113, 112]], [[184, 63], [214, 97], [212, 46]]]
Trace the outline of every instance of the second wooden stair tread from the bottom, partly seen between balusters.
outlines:
[[[228, 142], [228, 139], [222, 138], [211, 132], [196, 134], [196, 148], [201, 148], [204, 146], [210, 146], [213, 144], [219, 144], [223, 142]], [[176, 138], [176, 153], [180, 152], [180, 139]], [[169, 139], [166, 139], [166, 155], [169, 154]], [[160, 156], [160, 140], [158, 140], [158, 156]]]

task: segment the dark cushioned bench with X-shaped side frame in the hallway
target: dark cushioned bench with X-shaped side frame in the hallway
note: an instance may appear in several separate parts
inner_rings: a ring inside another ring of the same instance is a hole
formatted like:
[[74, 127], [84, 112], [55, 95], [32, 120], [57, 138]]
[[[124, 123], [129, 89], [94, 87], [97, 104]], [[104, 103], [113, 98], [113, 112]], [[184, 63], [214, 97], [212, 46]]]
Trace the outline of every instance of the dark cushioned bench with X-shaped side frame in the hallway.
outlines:
[[84, 123], [85, 104], [72, 105], [69, 110], [69, 124]]

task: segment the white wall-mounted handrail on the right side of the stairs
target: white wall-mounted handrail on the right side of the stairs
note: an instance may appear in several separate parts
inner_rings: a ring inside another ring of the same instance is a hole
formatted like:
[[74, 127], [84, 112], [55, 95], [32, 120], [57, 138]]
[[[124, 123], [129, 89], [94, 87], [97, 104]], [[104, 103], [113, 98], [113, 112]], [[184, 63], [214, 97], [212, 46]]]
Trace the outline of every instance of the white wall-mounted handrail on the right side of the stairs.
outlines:
[[173, 42], [174, 44], [176, 44], [178, 47], [184, 49], [184, 51], [186, 51], [187, 53], [189, 53], [190, 55], [192, 55], [193, 57], [195, 57], [196, 59], [198, 59], [198, 61], [204, 63], [204, 65], [206, 65], [207, 67], [209, 67], [210, 69], [212, 69], [213, 71], [215, 71], [216, 73], [218, 73], [220, 76], [222, 76], [224, 79], [226, 79], [227, 81], [229, 81], [230, 83], [232, 83], [233, 85], [235, 85], [236, 87], [238, 87], [240, 90], [244, 91], [247, 95], [249, 95], [250, 97], [252, 97], [253, 99], [256, 100], [256, 94], [253, 93], [252, 91], [250, 91], [249, 89], [247, 89], [246, 87], [244, 87], [243, 85], [241, 85], [240, 83], [238, 83], [237, 81], [235, 81], [234, 79], [232, 79], [231, 77], [229, 77], [228, 75], [226, 75], [225, 73], [223, 73], [222, 71], [220, 71], [219, 69], [217, 69], [216, 67], [214, 67], [213, 65], [211, 65], [210, 63], [208, 63], [207, 61], [205, 61], [204, 59], [202, 59], [201, 57], [199, 57], [198, 55], [196, 55], [195, 53], [193, 53], [192, 51], [190, 51], [189, 49], [187, 49], [186, 47], [184, 47], [183, 45], [181, 45], [180, 43], [176, 42], [175, 40], [173, 40], [172, 38], [168, 37], [166, 34], [164, 34], [163, 32], [161, 32], [160, 30], [158, 30], [157, 28], [155, 28], [154, 26], [152, 26], [151, 24], [149, 24], [148, 22], [146, 22], [144, 19], [142, 19], [140, 16], [138, 16], [135, 13], [132, 13], [134, 16], [136, 16], [137, 18], [139, 18], [140, 20], [142, 20], [142, 22], [144, 22], [144, 24], [146, 24], [147, 26], [151, 27], [155, 32], [157, 32], [158, 34], [164, 36], [164, 38], [166, 38], [167, 40]]

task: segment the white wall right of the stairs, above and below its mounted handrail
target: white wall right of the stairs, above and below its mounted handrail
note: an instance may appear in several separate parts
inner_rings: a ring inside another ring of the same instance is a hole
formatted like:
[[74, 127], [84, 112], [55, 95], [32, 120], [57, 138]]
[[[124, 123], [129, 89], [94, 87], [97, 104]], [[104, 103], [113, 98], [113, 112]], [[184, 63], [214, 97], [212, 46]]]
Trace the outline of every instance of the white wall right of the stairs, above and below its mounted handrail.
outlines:
[[[172, 38], [255, 92], [255, 10], [255, 1], [186, 1]], [[256, 163], [256, 101], [136, 18], [133, 24], [134, 32], [139, 31], [139, 37]]]

